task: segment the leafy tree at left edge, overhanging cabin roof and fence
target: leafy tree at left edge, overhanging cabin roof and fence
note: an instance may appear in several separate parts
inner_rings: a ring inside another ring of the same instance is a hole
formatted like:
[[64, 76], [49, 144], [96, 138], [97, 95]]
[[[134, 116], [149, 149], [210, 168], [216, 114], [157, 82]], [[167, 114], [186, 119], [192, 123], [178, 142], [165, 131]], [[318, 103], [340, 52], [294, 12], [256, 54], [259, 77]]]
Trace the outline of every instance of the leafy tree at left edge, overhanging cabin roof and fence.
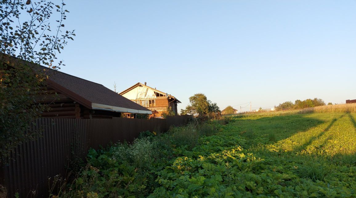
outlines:
[[[45, 105], [35, 97], [48, 78], [46, 72], [34, 72], [36, 64], [59, 69], [56, 55], [74, 31], [64, 31], [66, 4], [41, 0], [1, 0], [0, 4], [0, 160], [22, 141], [38, 136], [30, 129]], [[53, 13], [54, 12], [54, 13]], [[55, 21], [53, 20], [55, 15]], [[57, 19], [57, 20], [56, 20]]]

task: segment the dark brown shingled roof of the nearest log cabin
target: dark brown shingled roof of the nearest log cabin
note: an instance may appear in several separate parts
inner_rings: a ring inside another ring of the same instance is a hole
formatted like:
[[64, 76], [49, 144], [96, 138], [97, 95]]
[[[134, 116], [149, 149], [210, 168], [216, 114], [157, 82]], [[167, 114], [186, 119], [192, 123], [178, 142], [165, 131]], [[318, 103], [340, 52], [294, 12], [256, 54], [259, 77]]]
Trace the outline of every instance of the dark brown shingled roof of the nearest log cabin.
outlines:
[[[17, 59], [15, 57], [12, 58]], [[152, 114], [151, 110], [132, 102], [99, 83], [41, 65], [31, 64], [28, 61], [20, 61], [32, 67], [35, 72], [45, 72], [49, 76], [46, 79], [49, 86], [89, 109]]]

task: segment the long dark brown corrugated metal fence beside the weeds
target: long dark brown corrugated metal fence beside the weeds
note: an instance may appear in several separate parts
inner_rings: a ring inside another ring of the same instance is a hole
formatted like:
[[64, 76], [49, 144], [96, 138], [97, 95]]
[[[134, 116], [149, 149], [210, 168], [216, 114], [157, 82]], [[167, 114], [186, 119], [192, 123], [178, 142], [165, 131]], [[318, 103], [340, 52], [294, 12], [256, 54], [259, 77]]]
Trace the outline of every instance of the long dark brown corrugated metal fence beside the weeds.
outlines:
[[48, 195], [48, 178], [66, 175], [66, 165], [72, 152], [85, 159], [89, 148], [119, 141], [133, 141], [143, 131], [168, 131], [172, 125], [188, 122], [190, 116], [167, 116], [167, 119], [52, 119], [37, 120], [35, 128], [43, 130], [36, 141], [24, 142], [13, 153], [13, 160], [2, 167], [0, 182], [7, 187], [10, 196], [20, 197]]

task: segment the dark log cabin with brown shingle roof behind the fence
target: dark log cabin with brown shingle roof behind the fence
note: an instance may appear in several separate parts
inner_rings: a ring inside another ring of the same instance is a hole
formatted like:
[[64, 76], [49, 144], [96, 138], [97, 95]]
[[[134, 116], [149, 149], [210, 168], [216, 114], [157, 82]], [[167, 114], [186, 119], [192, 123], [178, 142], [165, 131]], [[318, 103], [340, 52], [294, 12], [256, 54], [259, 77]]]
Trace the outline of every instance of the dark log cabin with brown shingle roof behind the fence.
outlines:
[[152, 111], [117, 94], [105, 86], [53, 70], [28, 61], [10, 57], [7, 61], [21, 61], [29, 65], [34, 75], [40, 72], [47, 75], [40, 94], [35, 97], [36, 103], [48, 105], [42, 117], [77, 118], [77, 119], [112, 119], [121, 117], [122, 113], [152, 114]]

